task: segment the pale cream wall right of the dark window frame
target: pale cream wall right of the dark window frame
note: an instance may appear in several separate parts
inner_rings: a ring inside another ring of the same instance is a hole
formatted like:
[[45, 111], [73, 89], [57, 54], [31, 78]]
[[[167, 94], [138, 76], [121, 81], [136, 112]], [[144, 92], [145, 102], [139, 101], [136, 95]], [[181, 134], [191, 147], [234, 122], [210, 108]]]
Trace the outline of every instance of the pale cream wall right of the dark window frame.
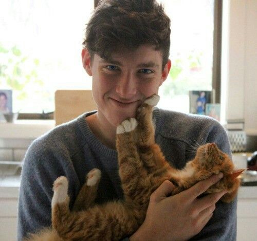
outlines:
[[257, 134], [257, 0], [224, 0], [222, 47], [225, 118]]

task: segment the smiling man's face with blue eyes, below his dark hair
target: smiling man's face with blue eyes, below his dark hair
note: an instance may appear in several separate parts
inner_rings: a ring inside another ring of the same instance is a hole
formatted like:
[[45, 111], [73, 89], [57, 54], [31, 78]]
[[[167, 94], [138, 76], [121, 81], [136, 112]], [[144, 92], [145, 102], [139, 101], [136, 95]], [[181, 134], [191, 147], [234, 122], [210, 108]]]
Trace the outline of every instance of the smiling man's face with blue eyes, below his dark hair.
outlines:
[[95, 54], [87, 72], [93, 77], [99, 120], [117, 126], [126, 118], [135, 117], [144, 99], [158, 94], [169, 69], [170, 61], [162, 70], [161, 52], [149, 45], [118, 51], [109, 60]]

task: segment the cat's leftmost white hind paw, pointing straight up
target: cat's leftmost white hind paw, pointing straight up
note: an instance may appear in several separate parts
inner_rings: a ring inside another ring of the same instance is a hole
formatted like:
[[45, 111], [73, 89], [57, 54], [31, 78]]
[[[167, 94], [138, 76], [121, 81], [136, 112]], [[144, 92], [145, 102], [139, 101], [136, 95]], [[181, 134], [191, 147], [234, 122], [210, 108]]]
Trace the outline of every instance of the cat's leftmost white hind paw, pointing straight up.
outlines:
[[65, 202], [68, 196], [68, 180], [66, 177], [58, 177], [53, 182], [52, 208], [56, 203]]

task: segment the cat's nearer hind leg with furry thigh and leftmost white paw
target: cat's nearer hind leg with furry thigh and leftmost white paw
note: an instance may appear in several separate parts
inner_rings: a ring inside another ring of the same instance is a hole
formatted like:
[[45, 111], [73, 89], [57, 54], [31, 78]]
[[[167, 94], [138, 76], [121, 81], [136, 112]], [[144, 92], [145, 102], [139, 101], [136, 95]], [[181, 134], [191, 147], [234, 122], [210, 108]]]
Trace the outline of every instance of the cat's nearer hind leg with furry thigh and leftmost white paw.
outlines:
[[142, 224], [142, 213], [123, 202], [70, 212], [67, 190], [67, 178], [60, 177], [54, 182], [52, 228], [64, 240], [120, 240]]

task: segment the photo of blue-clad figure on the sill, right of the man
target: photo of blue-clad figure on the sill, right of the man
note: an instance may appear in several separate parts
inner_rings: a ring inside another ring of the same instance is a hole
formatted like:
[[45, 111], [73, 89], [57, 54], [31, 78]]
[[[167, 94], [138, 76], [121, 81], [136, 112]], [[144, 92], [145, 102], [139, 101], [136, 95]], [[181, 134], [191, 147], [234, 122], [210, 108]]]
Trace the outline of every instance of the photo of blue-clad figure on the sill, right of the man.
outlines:
[[190, 113], [205, 115], [206, 104], [211, 104], [214, 98], [214, 91], [211, 90], [190, 90], [189, 101], [190, 101]]

